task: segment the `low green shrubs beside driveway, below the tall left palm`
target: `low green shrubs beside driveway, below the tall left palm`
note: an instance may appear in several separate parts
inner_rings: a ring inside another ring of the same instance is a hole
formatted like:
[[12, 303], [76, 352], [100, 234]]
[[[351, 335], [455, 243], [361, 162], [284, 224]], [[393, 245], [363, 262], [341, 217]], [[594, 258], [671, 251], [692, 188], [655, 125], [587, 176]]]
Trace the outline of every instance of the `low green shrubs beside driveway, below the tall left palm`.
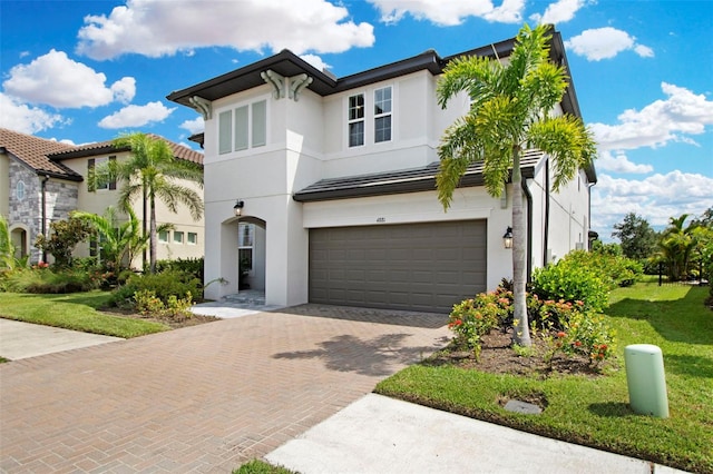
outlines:
[[153, 292], [162, 303], [168, 304], [172, 296], [199, 295], [202, 288], [201, 280], [185, 271], [166, 270], [159, 274], [131, 275], [124, 285], [111, 293], [109, 304], [135, 307], [134, 295], [145, 290]]

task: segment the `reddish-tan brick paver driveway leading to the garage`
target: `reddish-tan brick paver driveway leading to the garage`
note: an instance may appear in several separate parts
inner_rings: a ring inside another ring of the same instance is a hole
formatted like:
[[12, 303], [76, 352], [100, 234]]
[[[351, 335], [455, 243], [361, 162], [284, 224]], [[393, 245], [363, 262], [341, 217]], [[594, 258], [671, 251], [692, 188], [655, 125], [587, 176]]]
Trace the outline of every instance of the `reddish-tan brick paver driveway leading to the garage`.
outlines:
[[441, 347], [445, 323], [303, 305], [0, 364], [0, 471], [231, 472]]

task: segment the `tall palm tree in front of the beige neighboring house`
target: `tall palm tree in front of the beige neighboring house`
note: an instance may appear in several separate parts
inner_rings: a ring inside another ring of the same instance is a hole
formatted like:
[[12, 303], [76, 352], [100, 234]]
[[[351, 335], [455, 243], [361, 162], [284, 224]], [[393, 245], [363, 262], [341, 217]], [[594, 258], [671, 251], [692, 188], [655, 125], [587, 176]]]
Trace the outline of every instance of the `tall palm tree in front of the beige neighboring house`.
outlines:
[[[119, 192], [119, 207], [128, 211], [131, 203], [140, 197], [149, 209], [149, 258], [150, 271], [156, 271], [156, 199], [162, 200], [172, 213], [178, 205], [188, 208], [198, 220], [203, 216], [203, 198], [194, 189], [178, 180], [188, 180], [203, 186], [203, 169], [199, 165], [179, 160], [168, 144], [146, 134], [124, 135], [114, 140], [116, 148], [131, 150], [130, 158], [109, 162], [109, 175], [124, 186]], [[146, 220], [146, 213], [144, 213]]]

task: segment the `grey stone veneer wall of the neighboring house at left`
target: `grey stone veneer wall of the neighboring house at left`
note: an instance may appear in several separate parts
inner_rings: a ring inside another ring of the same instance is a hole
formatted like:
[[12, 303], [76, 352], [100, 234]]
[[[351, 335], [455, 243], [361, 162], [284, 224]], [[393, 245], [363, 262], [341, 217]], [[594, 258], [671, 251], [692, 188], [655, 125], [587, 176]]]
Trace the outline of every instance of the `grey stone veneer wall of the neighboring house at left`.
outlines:
[[[37, 236], [42, 233], [42, 180], [41, 175], [27, 168], [21, 162], [11, 159], [10, 167], [10, 203], [9, 223], [22, 224], [28, 231], [28, 253], [30, 261], [36, 264], [41, 259], [41, 250], [35, 247]], [[25, 196], [18, 198], [18, 182], [25, 184]], [[71, 210], [77, 209], [79, 197], [78, 182], [50, 178], [45, 188], [47, 230], [56, 220], [69, 217]], [[11, 224], [11, 227], [13, 225]]]

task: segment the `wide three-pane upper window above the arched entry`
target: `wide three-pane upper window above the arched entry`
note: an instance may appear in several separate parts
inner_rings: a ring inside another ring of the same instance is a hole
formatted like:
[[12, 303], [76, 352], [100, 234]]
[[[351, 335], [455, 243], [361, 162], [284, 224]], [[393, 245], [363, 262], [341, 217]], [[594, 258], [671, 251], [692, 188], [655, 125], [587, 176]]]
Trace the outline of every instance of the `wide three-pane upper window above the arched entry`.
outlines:
[[267, 101], [218, 113], [218, 152], [229, 154], [267, 144]]

